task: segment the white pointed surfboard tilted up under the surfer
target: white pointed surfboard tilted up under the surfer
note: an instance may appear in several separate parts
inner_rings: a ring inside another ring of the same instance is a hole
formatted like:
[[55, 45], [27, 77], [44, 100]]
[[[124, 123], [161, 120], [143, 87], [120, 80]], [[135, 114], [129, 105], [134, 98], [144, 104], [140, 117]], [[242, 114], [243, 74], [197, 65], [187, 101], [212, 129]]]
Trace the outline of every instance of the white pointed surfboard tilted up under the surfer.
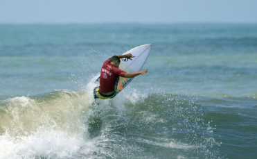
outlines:
[[[135, 57], [132, 58], [132, 60], [129, 60], [127, 58], [122, 58], [120, 69], [122, 69], [127, 73], [140, 71], [140, 69], [145, 64], [145, 61], [148, 59], [150, 49], [151, 49], [151, 44], [143, 44], [139, 47], [135, 47], [123, 53], [123, 55], [127, 53], [131, 53]], [[121, 92], [132, 81], [133, 78], [120, 77], [117, 85], [117, 94]], [[96, 79], [96, 83], [98, 85], [99, 85], [99, 79], [100, 79], [100, 75]]]

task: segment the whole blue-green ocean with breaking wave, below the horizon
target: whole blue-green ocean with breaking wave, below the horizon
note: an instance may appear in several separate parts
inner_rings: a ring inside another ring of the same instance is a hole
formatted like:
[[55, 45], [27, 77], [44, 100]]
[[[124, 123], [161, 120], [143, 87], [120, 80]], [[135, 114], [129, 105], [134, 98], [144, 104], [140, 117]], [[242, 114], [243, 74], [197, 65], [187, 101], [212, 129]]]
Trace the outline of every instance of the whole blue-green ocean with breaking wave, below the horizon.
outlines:
[[[114, 99], [94, 79], [152, 44]], [[257, 24], [0, 24], [0, 158], [256, 158]]]

